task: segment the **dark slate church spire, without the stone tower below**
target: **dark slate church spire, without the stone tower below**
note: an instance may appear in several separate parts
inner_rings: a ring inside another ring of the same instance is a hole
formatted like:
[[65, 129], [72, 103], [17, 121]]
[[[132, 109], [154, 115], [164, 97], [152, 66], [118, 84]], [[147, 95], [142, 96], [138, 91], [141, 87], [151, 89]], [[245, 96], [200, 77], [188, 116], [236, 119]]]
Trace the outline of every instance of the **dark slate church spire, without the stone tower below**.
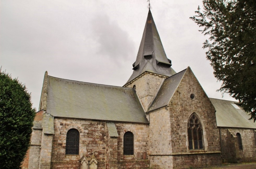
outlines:
[[133, 70], [133, 74], [127, 83], [144, 72], [164, 76], [171, 76], [176, 73], [171, 68], [171, 61], [164, 52], [150, 9], [148, 11], [148, 18], [142, 35], [139, 52], [136, 61], [133, 63]]

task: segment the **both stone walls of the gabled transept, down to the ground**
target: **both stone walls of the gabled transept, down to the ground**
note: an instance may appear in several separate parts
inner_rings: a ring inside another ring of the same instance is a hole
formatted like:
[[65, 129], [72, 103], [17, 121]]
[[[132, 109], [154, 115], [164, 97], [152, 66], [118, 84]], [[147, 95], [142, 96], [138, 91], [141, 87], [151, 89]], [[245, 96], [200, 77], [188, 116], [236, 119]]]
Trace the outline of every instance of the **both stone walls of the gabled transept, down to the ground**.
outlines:
[[[191, 94], [195, 99], [190, 98]], [[204, 149], [201, 150], [189, 150], [188, 147], [187, 125], [193, 113], [199, 117], [203, 128]], [[148, 118], [150, 167], [205, 167], [221, 163], [215, 108], [190, 68], [186, 70], [168, 107], [150, 112]]]

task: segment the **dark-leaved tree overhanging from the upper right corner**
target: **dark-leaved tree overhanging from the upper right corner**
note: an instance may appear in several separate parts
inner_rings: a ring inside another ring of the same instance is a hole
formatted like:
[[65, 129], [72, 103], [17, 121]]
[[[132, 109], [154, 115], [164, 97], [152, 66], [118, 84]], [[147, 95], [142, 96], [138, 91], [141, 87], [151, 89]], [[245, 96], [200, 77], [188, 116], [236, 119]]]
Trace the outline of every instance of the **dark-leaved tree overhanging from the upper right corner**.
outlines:
[[221, 92], [229, 93], [256, 120], [256, 0], [203, 0], [191, 17], [202, 34]]

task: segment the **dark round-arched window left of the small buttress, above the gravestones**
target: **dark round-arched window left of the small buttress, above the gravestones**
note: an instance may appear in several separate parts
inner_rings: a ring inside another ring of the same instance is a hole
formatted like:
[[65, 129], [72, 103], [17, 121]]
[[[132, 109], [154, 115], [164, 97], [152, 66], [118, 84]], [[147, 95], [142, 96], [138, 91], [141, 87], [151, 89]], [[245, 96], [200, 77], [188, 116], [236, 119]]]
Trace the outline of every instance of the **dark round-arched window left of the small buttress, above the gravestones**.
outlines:
[[79, 131], [76, 129], [68, 130], [66, 140], [66, 154], [79, 154]]

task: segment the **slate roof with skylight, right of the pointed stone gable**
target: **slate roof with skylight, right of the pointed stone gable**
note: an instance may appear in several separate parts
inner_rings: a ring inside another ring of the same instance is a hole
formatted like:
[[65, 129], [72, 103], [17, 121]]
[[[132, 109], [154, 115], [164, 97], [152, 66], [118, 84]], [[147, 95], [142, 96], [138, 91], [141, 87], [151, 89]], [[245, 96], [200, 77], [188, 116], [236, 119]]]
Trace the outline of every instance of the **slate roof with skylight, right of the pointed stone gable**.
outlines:
[[236, 109], [231, 103], [234, 101], [209, 98], [216, 109], [218, 127], [256, 128], [253, 120], [243, 109]]

